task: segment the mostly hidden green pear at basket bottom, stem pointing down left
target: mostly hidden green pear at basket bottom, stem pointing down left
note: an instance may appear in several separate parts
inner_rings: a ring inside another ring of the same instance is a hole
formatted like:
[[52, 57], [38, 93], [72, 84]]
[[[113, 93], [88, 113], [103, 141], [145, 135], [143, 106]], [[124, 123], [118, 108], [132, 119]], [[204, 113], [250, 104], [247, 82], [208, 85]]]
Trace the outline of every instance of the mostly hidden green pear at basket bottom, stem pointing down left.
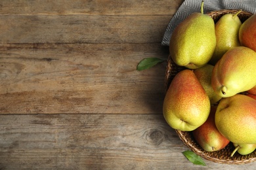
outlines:
[[241, 154], [241, 155], [247, 155], [247, 154], [251, 154], [255, 149], [256, 149], [256, 144], [236, 144], [233, 143], [234, 146], [236, 147], [234, 149], [234, 151], [231, 153], [231, 157], [234, 156], [234, 154], [236, 153], [236, 151]]

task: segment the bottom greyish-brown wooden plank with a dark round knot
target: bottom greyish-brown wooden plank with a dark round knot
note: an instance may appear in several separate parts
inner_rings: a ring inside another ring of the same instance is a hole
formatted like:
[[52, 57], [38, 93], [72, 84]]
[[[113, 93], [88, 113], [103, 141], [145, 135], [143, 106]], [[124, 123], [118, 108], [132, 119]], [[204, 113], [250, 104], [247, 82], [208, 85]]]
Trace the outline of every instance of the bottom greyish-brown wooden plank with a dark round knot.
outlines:
[[207, 169], [157, 114], [0, 115], [0, 129], [0, 169]]

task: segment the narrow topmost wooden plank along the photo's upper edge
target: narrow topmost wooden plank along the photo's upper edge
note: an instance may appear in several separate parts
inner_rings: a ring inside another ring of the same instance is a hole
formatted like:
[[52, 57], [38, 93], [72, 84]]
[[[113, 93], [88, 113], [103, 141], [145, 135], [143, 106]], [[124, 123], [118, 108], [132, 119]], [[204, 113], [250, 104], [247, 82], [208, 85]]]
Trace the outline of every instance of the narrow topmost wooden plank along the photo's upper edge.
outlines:
[[174, 14], [182, 0], [1, 0], [0, 14], [90, 14], [90, 15], [163, 15]]

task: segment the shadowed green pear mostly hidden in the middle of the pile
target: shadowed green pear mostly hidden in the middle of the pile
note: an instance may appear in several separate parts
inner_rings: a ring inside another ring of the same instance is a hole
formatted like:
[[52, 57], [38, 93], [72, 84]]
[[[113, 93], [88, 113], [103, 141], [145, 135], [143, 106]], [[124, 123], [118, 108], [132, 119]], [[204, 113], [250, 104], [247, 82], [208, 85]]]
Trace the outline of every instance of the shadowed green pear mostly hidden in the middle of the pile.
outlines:
[[202, 84], [203, 89], [207, 93], [211, 104], [217, 103], [221, 99], [221, 96], [217, 95], [213, 87], [211, 86], [211, 74], [213, 72], [213, 65], [203, 65], [198, 69], [194, 69], [194, 74], [198, 78], [200, 84]]

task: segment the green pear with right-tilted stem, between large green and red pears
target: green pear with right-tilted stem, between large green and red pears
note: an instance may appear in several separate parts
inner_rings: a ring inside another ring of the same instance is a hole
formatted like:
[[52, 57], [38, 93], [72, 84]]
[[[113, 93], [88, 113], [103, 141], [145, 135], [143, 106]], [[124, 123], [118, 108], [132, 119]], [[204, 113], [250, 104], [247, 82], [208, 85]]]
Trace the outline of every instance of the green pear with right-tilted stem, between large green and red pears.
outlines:
[[215, 24], [216, 47], [209, 63], [215, 65], [225, 52], [235, 46], [240, 46], [238, 37], [240, 26], [242, 22], [238, 18], [238, 14], [224, 14]]

